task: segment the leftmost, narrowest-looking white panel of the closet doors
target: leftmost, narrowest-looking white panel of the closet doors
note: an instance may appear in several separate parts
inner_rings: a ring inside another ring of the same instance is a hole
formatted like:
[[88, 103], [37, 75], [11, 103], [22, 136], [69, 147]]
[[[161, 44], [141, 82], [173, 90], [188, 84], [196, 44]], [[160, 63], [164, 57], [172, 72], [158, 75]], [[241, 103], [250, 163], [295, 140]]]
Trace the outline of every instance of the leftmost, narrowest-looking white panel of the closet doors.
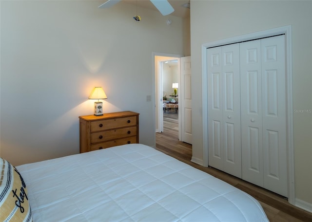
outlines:
[[224, 170], [221, 47], [207, 49], [207, 71], [208, 161], [210, 166]]

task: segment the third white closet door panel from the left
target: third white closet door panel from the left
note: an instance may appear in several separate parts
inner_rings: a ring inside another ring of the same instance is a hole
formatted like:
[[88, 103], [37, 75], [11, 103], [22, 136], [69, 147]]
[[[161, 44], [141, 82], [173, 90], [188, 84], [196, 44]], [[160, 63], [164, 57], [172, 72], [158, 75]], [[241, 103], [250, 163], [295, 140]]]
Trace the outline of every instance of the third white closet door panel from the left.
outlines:
[[242, 178], [263, 186], [261, 41], [240, 44]]

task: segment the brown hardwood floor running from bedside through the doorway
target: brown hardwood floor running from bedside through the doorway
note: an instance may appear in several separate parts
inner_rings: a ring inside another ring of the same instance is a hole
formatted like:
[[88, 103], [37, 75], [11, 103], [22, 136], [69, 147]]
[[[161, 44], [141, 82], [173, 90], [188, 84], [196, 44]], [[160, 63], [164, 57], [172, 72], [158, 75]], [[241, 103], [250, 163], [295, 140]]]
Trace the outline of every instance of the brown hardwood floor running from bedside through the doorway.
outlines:
[[164, 113], [164, 131], [156, 133], [156, 149], [250, 194], [261, 203], [270, 222], [312, 222], [312, 213], [291, 205], [278, 194], [213, 167], [203, 167], [191, 162], [192, 145], [178, 141], [177, 118], [178, 114], [174, 111]]

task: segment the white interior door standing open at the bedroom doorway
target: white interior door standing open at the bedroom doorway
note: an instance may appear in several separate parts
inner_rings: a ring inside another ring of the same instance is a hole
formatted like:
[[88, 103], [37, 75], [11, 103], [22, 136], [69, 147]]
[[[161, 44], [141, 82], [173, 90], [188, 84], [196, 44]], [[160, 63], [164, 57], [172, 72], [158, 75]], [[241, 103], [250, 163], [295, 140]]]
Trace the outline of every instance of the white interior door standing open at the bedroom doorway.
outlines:
[[181, 141], [189, 144], [192, 144], [191, 74], [191, 56], [181, 57], [181, 89], [179, 95]]

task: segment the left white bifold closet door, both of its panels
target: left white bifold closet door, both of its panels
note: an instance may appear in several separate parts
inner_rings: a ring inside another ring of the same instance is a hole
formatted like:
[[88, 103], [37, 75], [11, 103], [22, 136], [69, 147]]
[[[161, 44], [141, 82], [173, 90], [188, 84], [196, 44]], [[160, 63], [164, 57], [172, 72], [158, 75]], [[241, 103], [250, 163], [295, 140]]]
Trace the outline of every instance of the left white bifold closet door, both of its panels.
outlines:
[[208, 50], [209, 165], [241, 178], [239, 43]]

